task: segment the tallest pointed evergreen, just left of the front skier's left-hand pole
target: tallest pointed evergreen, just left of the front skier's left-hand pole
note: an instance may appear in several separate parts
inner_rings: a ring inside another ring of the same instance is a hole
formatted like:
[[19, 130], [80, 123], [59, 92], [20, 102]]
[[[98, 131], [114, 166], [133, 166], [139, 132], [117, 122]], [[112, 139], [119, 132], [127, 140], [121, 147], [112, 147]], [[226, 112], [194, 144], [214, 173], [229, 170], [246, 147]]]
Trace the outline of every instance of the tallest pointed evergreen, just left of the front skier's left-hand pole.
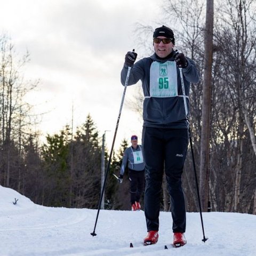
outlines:
[[74, 206], [97, 208], [101, 185], [101, 147], [98, 131], [87, 115], [86, 122], [77, 128], [73, 143]]

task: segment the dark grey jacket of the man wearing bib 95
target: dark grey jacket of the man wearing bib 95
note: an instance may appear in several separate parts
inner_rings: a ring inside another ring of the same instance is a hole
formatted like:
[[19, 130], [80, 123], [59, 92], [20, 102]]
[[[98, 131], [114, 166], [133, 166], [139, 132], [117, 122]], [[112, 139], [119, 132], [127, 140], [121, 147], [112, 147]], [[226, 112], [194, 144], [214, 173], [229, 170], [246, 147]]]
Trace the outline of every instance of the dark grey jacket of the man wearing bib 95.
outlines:
[[[154, 61], [162, 62], [174, 61], [174, 51], [170, 54], [169, 59], [159, 59], [154, 53], [151, 57], [143, 58], [131, 68], [129, 82], [127, 85], [133, 85], [139, 80], [142, 82], [142, 89], [145, 97], [143, 101], [143, 126], [148, 127], [162, 127], [162, 128], [187, 128], [187, 118], [185, 114], [185, 104], [182, 97], [182, 87], [180, 79], [180, 71], [177, 67], [178, 79], [178, 96], [168, 98], [155, 98], [150, 97], [149, 84], [150, 84], [150, 66]], [[193, 60], [186, 58], [187, 67], [183, 68], [183, 81], [185, 84], [186, 95], [189, 96], [190, 83], [198, 83], [199, 71]], [[128, 71], [128, 66], [124, 64], [121, 71], [121, 83], [125, 85], [125, 79]], [[189, 114], [189, 98], [186, 97], [188, 114]]]

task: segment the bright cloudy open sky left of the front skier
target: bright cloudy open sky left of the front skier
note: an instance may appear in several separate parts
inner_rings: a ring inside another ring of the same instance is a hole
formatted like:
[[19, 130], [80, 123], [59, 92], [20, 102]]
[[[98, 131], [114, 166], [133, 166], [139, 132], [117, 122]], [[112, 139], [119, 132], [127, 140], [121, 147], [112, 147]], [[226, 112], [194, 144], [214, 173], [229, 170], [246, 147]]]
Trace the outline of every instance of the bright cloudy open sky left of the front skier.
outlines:
[[[124, 56], [136, 46], [135, 23], [157, 27], [159, 0], [8, 0], [1, 2], [1, 32], [9, 35], [20, 56], [30, 53], [25, 78], [40, 79], [26, 100], [43, 116], [44, 134], [74, 126], [91, 114], [107, 146], [113, 141], [123, 94], [120, 71]], [[140, 58], [138, 52], [138, 58]], [[127, 88], [126, 100], [134, 93]], [[125, 101], [126, 102], [126, 101]], [[142, 123], [125, 104], [115, 146]], [[141, 140], [141, 138], [139, 138]]]

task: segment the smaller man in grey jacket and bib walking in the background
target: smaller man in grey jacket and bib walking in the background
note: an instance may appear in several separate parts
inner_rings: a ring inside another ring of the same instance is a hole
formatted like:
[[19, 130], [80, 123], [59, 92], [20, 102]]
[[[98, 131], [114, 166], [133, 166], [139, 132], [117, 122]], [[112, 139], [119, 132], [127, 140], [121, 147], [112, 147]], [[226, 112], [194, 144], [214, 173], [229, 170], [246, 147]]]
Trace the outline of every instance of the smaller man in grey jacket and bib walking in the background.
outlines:
[[119, 183], [122, 183], [124, 177], [125, 167], [128, 162], [129, 180], [130, 180], [130, 193], [131, 193], [131, 206], [132, 211], [140, 210], [140, 197], [144, 189], [145, 183], [145, 165], [143, 163], [143, 156], [141, 145], [138, 145], [138, 137], [132, 135], [132, 146], [126, 148], [123, 155], [123, 161], [119, 174]]

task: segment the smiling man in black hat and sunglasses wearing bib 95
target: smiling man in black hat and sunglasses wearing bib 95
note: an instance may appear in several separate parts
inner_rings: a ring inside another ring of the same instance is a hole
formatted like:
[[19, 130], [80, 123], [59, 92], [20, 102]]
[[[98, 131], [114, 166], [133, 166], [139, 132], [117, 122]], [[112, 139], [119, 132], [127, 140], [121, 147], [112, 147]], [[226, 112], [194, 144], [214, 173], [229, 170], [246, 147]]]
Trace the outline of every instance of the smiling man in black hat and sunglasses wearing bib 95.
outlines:
[[158, 241], [159, 197], [164, 171], [171, 199], [173, 244], [177, 247], [186, 244], [186, 207], [181, 175], [189, 137], [179, 68], [183, 71], [188, 111], [190, 83], [199, 81], [199, 72], [193, 60], [174, 51], [174, 44], [174, 34], [169, 27], [156, 28], [153, 34], [155, 53], [134, 64], [137, 53], [127, 52], [121, 71], [124, 85], [127, 70], [131, 67], [128, 85], [141, 80], [145, 96], [142, 130], [148, 231], [145, 245]]

